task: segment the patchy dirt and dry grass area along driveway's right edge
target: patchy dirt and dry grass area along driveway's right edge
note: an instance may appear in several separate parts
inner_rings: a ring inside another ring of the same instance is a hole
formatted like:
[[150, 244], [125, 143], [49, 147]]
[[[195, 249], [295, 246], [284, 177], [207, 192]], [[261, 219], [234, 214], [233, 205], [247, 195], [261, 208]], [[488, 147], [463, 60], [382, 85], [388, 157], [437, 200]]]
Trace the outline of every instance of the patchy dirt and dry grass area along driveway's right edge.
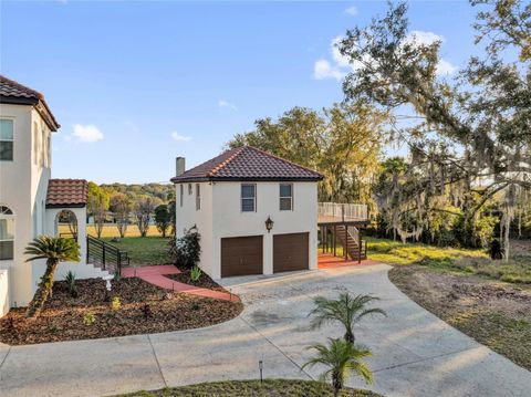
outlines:
[[480, 276], [399, 265], [389, 280], [410, 299], [531, 370], [531, 291]]

